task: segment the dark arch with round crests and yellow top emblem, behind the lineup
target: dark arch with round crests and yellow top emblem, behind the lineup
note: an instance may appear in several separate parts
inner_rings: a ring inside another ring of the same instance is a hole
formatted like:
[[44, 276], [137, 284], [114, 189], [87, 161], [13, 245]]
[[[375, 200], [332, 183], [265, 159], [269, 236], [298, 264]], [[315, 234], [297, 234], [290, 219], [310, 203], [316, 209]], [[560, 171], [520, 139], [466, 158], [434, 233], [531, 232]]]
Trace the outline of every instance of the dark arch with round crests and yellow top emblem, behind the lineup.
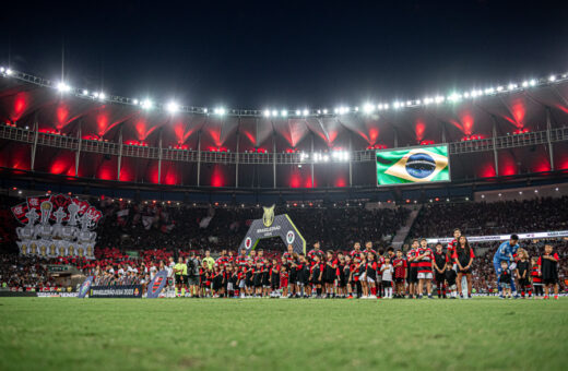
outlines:
[[292, 223], [287, 214], [274, 216], [274, 205], [263, 207], [262, 219], [252, 220], [247, 235], [240, 242], [240, 249], [247, 253], [255, 250], [259, 240], [264, 238], [280, 237], [286, 246], [292, 244], [294, 252], [306, 253], [306, 240], [299, 234], [298, 228]]

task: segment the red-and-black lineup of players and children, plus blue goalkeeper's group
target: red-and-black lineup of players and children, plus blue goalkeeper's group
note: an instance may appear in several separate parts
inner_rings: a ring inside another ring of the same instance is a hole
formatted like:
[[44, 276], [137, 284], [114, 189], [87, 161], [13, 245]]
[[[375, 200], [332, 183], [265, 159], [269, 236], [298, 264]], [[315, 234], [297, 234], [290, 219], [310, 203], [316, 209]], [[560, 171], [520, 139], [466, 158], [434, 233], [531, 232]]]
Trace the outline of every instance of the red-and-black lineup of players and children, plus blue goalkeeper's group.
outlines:
[[[495, 252], [499, 297], [547, 299], [554, 291], [557, 299], [558, 254], [545, 244], [542, 255], [531, 259], [518, 242], [511, 235]], [[281, 256], [241, 249], [238, 255], [223, 250], [214, 260], [209, 251], [202, 259], [191, 252], [178, 263], [170, 258], [167, 271], [176, 297], [433, 299], [435, 287], [438, 298], [469, 299], [474, 259], [466, 237], [454, 229], [446, 248], [438, 242], [431, 249], [426, 239], [416, 239], [406, 252], [375, 251], [372, 242], [363, 250], [355, 242], [350, 252], [323, 251], [316, 242], [307, 254], [288, 244]]]

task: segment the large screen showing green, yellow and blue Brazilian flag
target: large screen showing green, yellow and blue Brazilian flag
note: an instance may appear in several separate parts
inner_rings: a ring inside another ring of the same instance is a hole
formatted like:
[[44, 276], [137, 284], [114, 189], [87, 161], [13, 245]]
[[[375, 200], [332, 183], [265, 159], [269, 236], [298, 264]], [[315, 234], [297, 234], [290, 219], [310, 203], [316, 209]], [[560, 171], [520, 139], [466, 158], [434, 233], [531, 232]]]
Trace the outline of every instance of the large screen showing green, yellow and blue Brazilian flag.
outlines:
[[449, 181], [448, 146], [379, 151], [377, 180], [379, 185]]

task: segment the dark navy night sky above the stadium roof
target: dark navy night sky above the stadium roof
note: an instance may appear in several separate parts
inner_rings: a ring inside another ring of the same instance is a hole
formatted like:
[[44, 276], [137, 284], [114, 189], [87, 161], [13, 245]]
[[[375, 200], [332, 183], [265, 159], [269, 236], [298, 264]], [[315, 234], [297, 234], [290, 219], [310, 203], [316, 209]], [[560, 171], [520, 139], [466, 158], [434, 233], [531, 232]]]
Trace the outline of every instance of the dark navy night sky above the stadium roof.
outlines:
[[[332, 108], [568, 71], [567, 1], [32, 1], [0, 63], [196, 106]], [[63, 51], [64, 50], [64, 51]]]

